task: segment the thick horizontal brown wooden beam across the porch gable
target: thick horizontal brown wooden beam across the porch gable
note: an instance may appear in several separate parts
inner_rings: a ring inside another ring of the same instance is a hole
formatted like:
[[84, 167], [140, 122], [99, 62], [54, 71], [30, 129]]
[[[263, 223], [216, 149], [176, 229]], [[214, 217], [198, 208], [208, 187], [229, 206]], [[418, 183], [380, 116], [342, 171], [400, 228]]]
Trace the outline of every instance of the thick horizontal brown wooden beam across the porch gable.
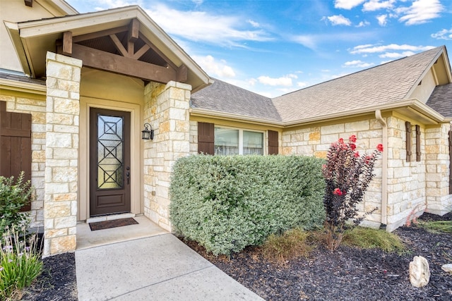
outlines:
[[110, 54], [109, 52], [73, 44], [72, 57], [81, 59], [83, 66], [124, 74], [142, 80], [167, 84], [177, 81], [176, 70], [137, 61], [136, 59]]

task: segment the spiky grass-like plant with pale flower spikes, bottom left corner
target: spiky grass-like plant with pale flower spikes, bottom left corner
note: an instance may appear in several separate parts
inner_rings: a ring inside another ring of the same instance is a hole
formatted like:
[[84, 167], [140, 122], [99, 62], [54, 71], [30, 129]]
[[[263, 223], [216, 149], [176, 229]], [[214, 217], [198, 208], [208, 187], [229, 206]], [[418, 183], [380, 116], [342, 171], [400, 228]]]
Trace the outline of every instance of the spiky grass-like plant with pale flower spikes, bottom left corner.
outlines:
[[38, 252], [36, 235], [24, 240], [14, 226], [6, 228], [0, 239], [0, 300], [27, 287], [41, 274], [42, 260]]

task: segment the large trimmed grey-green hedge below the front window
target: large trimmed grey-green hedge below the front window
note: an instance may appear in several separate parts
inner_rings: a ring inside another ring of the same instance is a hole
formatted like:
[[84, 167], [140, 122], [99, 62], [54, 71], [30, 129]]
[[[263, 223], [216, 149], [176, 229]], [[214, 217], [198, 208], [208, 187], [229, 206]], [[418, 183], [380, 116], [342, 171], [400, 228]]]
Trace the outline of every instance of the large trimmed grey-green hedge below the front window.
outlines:
[[172, 226], [215, 255], [261, 245], [290, 228], [321, 226], [323, 163], [304, 156], [181, 158], [169, 188]]

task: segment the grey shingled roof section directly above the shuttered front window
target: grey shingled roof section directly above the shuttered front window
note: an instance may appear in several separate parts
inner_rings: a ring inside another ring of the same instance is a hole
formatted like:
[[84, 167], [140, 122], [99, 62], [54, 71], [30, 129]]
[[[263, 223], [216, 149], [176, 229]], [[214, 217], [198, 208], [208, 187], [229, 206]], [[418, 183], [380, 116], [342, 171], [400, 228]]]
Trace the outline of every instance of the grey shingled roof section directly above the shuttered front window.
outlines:
[[191, 94], [192, 108], [281, 121], [270, 98], [222, 80], [214, 80], [212, 85]]

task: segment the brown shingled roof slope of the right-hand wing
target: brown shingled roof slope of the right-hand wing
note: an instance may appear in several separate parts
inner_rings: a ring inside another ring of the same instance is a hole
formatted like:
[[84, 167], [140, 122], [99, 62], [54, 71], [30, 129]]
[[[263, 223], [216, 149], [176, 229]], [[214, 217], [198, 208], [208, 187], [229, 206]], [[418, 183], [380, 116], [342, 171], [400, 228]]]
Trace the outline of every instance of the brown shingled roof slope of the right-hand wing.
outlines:
[[409, 97], [444, 50], [436, 47], [307, 87], [276, 97], [273, 104], [287, 123], [348, 115], [351, 110], [371, 111], [377, 105], [393, 106]]

